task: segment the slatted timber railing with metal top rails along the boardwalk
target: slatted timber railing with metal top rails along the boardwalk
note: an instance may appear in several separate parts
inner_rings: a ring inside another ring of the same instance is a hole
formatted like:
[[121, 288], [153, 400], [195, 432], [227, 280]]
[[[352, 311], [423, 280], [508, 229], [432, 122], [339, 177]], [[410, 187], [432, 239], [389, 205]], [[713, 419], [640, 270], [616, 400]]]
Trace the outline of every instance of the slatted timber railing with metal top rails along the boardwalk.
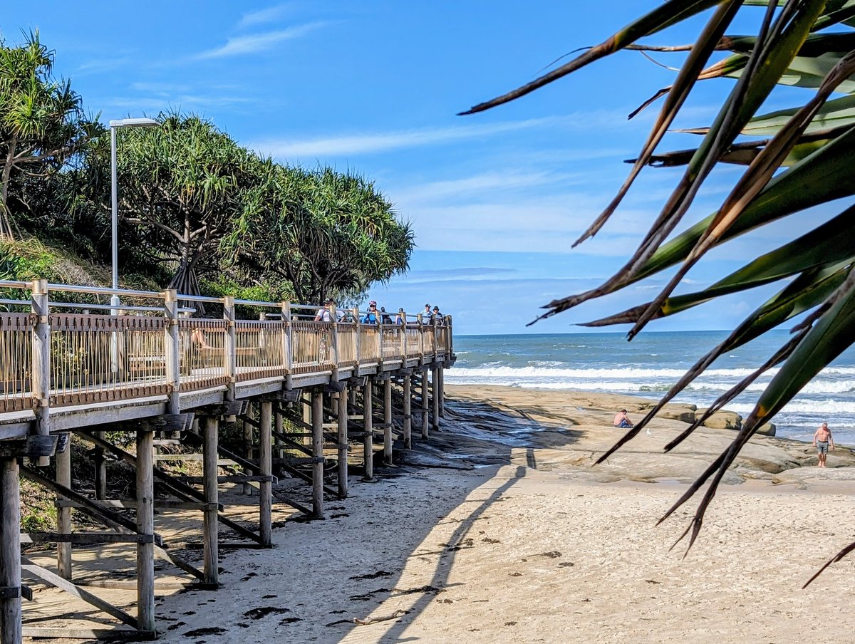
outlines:
[[[315, 304], [114, 291], [44, 280], [0, 281], [3, 287], [27, 288], [32, 299], [0, 300], [30, 307], [0, 313], [0, 413], [36, 411], [38, 432], [44, 434], [50, 432], [51, 407], [165, 394], [170, 408], [178, 409], [180, 392], [227, 387], [233, 393], [239, 382], [277, 377], [291, 387], [299, 375], [349, 377], [451, 357], [451, 316], [442, 324], [423, 323], [419, 316], [406, 324], [363, 324], [358, 318], [315, 322], [314, 315], [293, 313], [323, 308]], [[51, 302], [51, 290], [152, 295], [164, 306]], [[223, 315], [179, 316], [193, 311], [180, 310], [180, 300], [222, 304]], [[276, 308], [280, 316], [239, 320], [236, 305]], [[163, 315], [115, 315], [131, 311]]]

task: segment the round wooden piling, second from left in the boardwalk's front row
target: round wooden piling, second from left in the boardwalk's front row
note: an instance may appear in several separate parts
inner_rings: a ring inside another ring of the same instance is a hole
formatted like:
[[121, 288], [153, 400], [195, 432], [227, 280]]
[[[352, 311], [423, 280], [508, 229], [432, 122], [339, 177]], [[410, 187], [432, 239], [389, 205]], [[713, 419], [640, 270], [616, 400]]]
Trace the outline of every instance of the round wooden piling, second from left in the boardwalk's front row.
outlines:
[[155, 630], [155, 484], [154, 433], [137, 431], [137, 532], [150, 536], [137, 544], [137, 624]]

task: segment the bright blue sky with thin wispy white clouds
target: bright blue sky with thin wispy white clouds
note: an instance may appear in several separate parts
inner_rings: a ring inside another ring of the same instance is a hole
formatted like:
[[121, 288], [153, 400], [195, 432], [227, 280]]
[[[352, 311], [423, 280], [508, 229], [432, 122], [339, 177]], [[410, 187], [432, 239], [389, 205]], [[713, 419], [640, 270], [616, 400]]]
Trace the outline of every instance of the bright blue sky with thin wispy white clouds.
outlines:
[[[9, 3], [0, 30], [12, 44], [38, 28], [56, 50], [56, 74], [70, 78], [103, 121], [180, 109], [280, 162], [373, 179], [413, 223], [418, 245], [410, 272], [371, 292], [387, 309], [439, 304], [463, 334], [561, 333], [640, 304], [667, 281], [655, 277], [525, 326], [542, 304], [618, 269], [679, 178], [678, 170], [647, 170], [604, 230], [570, 250], [620, 186], [622, 161], [640, 148], [658, 105], [633, 121], [626, 116], [675, 72], [622, 52], [509, 105], [456, 114], [534, 79], [657, 3]], [[686, 44], [700, 25], [647, 42]], [[677, 127], [708, 124], [730, 85], [699, 86]], [[789, 104], [785, 93], [769, 109]], [[661, 149], [696, 143], [672, 134]], [[715, 210], [736, 172], [716, 171], [686, 224]], [[804, 226], [798, 219], [723, 246], [681, 291], [780, 244]], [[730, 328], [770, 292], [731, 296], [649, 328]]]

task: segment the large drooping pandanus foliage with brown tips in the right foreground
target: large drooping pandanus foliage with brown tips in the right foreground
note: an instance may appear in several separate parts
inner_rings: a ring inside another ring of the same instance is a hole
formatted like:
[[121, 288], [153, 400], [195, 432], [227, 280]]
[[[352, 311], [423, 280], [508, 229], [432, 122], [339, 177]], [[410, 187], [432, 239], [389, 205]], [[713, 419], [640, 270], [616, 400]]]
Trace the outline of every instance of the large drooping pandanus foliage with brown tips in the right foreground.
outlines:
[[[752, 9], [748, 9], [750, 5]], [[728, 35], [734, 18], [744, 11], [758, 12], [756, 32]], [[704, 12], [709, 14], [708, 20], [693, 44], [649, 47], [639, 42], [640, 38]], [[687, 272], [712, 248], [783, 217], [810, 217], [815, 212], [809, 210], [812, 206], [852, 197], [855, 193], [852, 27], [855, 27], [855, 0], [669, 0], [658, 3], [656, 9], [574, 60], [464, 112], [481, 112], [515, 100], [619, 50], [687, 52], [673, 84], [642, 105], [647, 107], [663, 97], [652, 131], [632, 161], [627, 180], [576, 244], [593, 237], [604, 226], [645, 166], [685, 167], [681, 179], [653, 218], [632, 257], [615, 275], [590, 291], [553, 300], [545, 305], [547, 311], [540, 317], [569, 310], [672, 269], [667, 286], [652, 301], [589, 323], [590, 326], [631, 323], [633, 327], [628, 333], [631, 340], [655, 318], [675, 315], [728, 293], [781, 283], [779, 292], [766, 299], [721, 344], [700, 357], [658, 405], [599, 458], [602, 462], [645, 428], [657, 411], [716, 357], [790, 322], [793, 325], [790, 339], [665, 447], [669, 451], [679, 445], [711, 413], [743, 392], [759, 375], [777, 367], [733, 443], [663, 517], [699, 493], [705, 483], [711, 483], [682, 535], [691, 532], [689, 547], [699, 533], [716, 487], [746, 441], [764, 422], [775, 417], [813, 376], [855, 342], [855, 207], [845, 208], [830, 221], [775, 251], [752, 258], [741, 269], [703, 291], [675, 294], [675, 287]], [[716, 51], [727, 51], [728, 55], [714, 60]], [[698, 147], [657, 153], [657, 146], [696, 84], [720, 77], [735, 82], [712, 124], [691, 130], [702, 137]], [[804, 101], [790, 109], [761, 113], [764, 101], [777, 85], [804, 87]], [[699, 188], [719, 162], [740, 163], [746, 169], [718, 210], [676, 232]], [[669, 239], [671, 233], [675, 235]], [[842, 549], [828, 564], [852, 550], [855, 544]]]

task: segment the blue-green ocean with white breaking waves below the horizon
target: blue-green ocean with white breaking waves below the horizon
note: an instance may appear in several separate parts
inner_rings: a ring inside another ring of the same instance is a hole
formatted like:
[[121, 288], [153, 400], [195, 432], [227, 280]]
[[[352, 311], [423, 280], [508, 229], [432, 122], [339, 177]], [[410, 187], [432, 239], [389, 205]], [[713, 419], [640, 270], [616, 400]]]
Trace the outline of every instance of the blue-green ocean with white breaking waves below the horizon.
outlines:
[[[457, 363], [445, 372], [445, 381], [658, 399], [726, 337], [723, 331], [643, 332], [631, 342], [621, 333], [456, 335]], [[719, 357], [673, 402], [708, 407], [787, 338], [786, 330], [775, 330]], [[775, 373], [769, 369], [725, 409], [747, 417]], [[855, 445], [855, 348], [823, 369], [772, 419], [777, 436], [807, 442], [823, 421], [835, 442]]]

